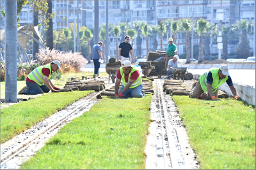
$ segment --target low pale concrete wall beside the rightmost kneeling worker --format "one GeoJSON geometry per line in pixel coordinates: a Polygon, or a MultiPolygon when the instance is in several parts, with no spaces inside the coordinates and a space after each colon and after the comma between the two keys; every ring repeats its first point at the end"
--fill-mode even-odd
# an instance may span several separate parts
{"type": "MultiPolygon", "coordinates": [[[[193,74],[193,79],[199,80],[200,76],[201,76],[200,74],[193,74]]],[[[236,83],[236,82],[233,82],[233,84],[236,87],[237,95],[241,97],[243,101],[246,101],[248,104],[255,105],[255,87],[250,85],[243,85],[241,83],[236,83]]],[[[233,96],[227,83],[223,83],[223,85],[221,85],[219,89],[225,90],[225,92],[228,95],[233,96]]]]}

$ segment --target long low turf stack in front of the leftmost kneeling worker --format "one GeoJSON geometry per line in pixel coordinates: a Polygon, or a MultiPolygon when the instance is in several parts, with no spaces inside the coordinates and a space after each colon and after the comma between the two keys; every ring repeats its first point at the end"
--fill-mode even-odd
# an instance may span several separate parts
{"type": "Polygon", "coordinates": [[[71,92],[75,90],[84,91],[84,90],[95,90],[99,92],[100,90],[106,89],[106,83],[102,80],[90,80],[90,81],[67,81],[64,88],[61,89],[61,92],[71,92]]]}

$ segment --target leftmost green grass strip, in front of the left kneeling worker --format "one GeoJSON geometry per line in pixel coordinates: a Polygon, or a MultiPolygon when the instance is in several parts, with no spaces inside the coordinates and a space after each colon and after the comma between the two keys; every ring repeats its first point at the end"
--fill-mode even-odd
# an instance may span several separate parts
{"type": "Polygon", "coordinates": [[[1,143],[93,91],[49,93],[1,109],[1,143]]]}

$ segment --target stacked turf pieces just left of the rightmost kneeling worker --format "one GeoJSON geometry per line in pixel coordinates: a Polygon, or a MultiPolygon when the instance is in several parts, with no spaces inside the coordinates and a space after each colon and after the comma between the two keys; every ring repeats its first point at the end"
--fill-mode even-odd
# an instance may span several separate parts
{"type": "Polygon", "coordinates": [[[166,94],[177,96],[189,96],[189,90],[182,84],[182,80],[164,80],[164,92],[166,94]]]}

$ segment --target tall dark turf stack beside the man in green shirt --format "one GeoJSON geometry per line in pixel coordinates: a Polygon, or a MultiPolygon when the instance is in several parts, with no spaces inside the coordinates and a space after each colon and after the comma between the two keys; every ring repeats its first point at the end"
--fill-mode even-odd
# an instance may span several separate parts
{"type": "Polygon", "coordinates": [[[152,71],[149,74],[150,76],[166,75],[165,60],[154,61],[160,57],[165,57],[165,55],[166,52],[158,50],[156,50],[156,52],[148,52],[147,60],[151,61],[152,65],[152,71]]]}

